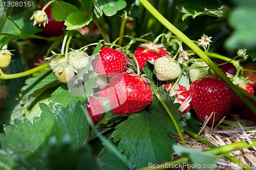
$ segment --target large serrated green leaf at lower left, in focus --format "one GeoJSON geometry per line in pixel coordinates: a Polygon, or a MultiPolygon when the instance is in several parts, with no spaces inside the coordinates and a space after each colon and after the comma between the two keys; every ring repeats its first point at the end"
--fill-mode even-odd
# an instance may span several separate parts
{"type": "Polygon", "coordinates": [[[67,109],[52,102],[48,107],[40,104],[40,117],[33,119],[33,124],[25,118],[16,119],[14,125],[7,125],[5,133],[0,134],[1,148],[13,151],[38,151],[38,154],[49,145],[49,140],[55,137],[60,141],[69,136],[72,148],[76,149],[87,141],[89,125],[83,113],[81,103],[72,102],[67,109]]]}

